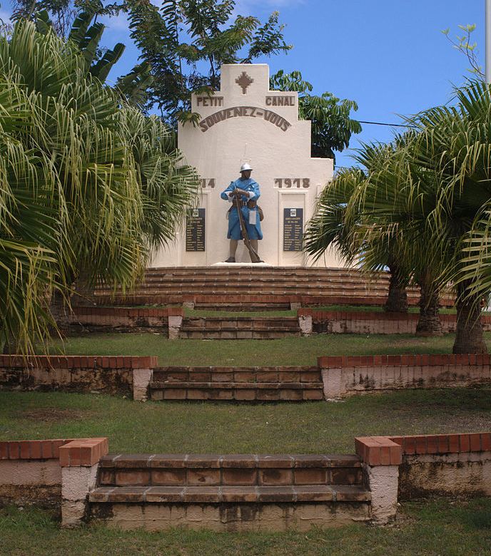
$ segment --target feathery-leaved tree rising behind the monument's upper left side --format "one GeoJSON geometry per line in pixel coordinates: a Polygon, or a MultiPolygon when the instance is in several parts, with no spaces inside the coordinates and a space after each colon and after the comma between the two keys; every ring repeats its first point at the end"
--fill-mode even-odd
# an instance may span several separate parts
{"type": "Polygon", "coordinates": [[[148,101],[164,120],[196,123],[189,115],[191,93],[213,93],[223,63],[250,63],[258,56],[288,51],[278,13],[261,24],[253,16],[233,19],[235,0],[127,0],[131,37],[141,60],[151,66],[148,101]]]}

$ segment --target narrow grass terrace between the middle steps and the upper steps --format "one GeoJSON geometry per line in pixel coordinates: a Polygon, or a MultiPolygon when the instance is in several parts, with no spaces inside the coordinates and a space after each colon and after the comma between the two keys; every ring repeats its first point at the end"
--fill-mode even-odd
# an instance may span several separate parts
{"type": "MultiPolygon", "coordinates": [[[[491,349],[491,332],[485,334],[491,349]]],[[[54,353],[70,355],[155,355],[162,366],[315,365],[324,355],[450,354],[453,334],[417,338],[410,334],[318,334],[280,340],[173,340],[163,334],[86,334],[53,341],[54,353]]]]}

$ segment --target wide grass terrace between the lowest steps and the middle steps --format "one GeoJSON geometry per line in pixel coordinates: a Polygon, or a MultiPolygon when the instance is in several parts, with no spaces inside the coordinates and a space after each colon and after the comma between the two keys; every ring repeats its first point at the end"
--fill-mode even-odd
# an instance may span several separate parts
{"type": "Polygon", "coordinates": [[[490,430],[491,387],[259,405],[0,392],[0,440],[108,436],[111,452],[353,453],[355,436],[490,430]]]}

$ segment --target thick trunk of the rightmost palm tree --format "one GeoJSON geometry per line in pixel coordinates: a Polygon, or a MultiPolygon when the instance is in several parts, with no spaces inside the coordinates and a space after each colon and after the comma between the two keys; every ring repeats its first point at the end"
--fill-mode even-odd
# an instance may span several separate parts
{"type": "Polygon", "coordinates": [[[470,282],[457,285],[457,330],[454,354],[487,354],[482,334],[481,296],[469,296],[470,282]]]}

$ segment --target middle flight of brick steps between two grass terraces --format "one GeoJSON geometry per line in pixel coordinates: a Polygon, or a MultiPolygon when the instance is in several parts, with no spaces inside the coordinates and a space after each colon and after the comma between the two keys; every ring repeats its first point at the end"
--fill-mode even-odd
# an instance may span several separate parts
{"type": "Polygon", "coordinates": [[[323,400],[318,367],[157,367],[150,398],[210,401],[323,400]]]}

